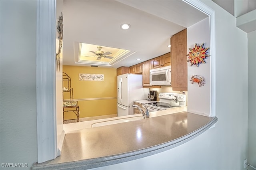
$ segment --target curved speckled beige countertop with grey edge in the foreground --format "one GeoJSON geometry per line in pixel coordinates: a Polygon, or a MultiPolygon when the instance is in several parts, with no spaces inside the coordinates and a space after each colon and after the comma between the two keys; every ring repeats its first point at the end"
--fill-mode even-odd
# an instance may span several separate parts
{"type": "Polygon", "coordinates": [[[69,132],[61,156],[32,169],[90,169],[142,158],[183,144],[217,121],[171,110],[152,112],[148,119],[69,132]]]}

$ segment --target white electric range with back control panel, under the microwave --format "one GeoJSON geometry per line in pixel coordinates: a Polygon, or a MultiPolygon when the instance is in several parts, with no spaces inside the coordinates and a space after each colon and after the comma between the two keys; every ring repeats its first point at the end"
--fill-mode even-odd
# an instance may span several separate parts
{"type": "Polygon", "coordinates": [[[175,108],[174,106],[171,106],[170,103],[172,100],[176,100],[176,97],[179,102],[179,106],[177,107],[186,106],[186,95],[179,93],[159,93],[159,101],[152,101],[150,103],[144,104],[149,112],[162,111],[166,109],[175,108]]]}

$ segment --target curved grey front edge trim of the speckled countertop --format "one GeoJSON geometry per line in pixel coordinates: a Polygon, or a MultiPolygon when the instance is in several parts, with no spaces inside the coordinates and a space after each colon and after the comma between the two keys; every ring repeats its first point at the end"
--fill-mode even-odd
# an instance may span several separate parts
{"type": "Polygon", "coordinates": [[[144,148],[141,150],[136,150],[132,152],[126,152],[122,154],[112,155],[112,156],[106,156],[101,158],[92,158],[87,160],[78,160],[73,162],[64,162],[59,164],[48,164],[48,165],[38,165],[34,164],[32,167],[32,170],[49,170],[49,169],[91,169],[91,168],[98,168],[102,166],[108,166],[113,164],[118,164],[122,162],[128,162],[131,160],[136,160],[139,158],[144,158],[146,156],[158,154],[160,152],[164,152],[166,150],[169,150],[171,148],[174,148],[176,146],[179,146],[181,144],[184,144],[188,142],[189,140],[192,140],[196,136],[199,136],[206,130],[208,130],[212,125],[214,125],[218,121],[217,117],[214,117],[209,123],[202,126],[201,128],[198,128],[197,130],[194,130],[193,132],[182,136],[180,138],[177,138],[175,140],[171,140],[169,142],[159,144],[156,146],[151,146],[149,148],[144,148]]]}

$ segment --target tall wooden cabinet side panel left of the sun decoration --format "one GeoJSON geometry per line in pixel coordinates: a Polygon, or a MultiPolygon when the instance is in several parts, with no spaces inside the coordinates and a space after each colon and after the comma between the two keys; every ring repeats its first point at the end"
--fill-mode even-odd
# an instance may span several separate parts
{"type": "Polygon", "coordinates": [[[171,37],[172,90],[188,91],[187,30],[171,37]]]}

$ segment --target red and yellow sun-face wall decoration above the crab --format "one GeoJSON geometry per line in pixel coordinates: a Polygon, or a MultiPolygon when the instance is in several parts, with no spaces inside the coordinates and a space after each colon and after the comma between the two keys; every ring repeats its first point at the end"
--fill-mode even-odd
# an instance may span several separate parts
{"type": "Polygon", "coordinates": [[[188,48],[190,50],[189,54],[187,54],[186,56],[188,56],[188,61],[190,62],[190,66],[192,66],[193,64],[196,64],[196,67],[199,66],[199,63],[205,63],[204,59],[206,59],[206,57],[209,57],[210,55],[206,54],[207,50],[209,49],[204,47],[204,43],[202,43],[202,45],[197,46],[197,44],[195,44],[195,47],[193,49],[188,48]]]}

